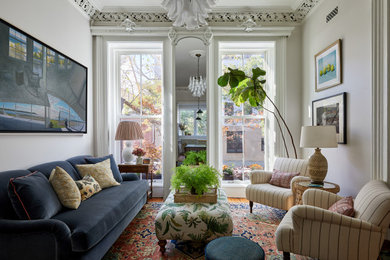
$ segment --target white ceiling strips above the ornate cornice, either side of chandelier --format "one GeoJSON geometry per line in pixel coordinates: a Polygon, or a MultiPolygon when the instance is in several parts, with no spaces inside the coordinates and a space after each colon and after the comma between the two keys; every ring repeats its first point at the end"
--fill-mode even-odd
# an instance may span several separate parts
{"type": "MultiPolygon", "coordinates": [[[[100,11],[164,11],[162,0],[90,0],[100,11]]],[[[303,0],[217,0],[213,11],[295,10],[303,0]]]]}

